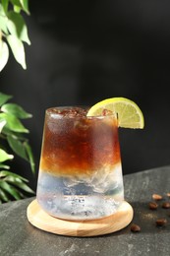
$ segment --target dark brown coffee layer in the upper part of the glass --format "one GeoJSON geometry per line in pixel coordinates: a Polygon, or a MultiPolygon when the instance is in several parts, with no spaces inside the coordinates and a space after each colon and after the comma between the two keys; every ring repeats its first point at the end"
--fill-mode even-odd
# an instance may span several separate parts
{"type": "Polygon", "coordinates": [[[82,108],[47,110],[40,169],[84,175],[120,162],[117,120],[85,117],[82,108]]]}

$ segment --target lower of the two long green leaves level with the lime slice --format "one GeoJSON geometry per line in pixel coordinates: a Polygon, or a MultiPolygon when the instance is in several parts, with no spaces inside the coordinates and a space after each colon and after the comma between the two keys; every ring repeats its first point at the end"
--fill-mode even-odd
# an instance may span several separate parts
{"type": "Polygon", "coordinates": [[[9,113],[0,113],[0,122],[5,120],[6,126],[8,129],[14,132],[19,133],[28,133],[28,129],[21,123],[21,121],[12,114],[9,113]]]}

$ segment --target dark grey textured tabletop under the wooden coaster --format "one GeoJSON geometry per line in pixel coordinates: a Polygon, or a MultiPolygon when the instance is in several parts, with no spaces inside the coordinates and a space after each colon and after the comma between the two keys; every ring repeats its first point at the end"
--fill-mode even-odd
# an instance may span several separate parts
{"type": "Polygon", "coordinates": [[[170,209],[163,209],[169,200],[170,166],[144,170],[124,176],[125,198],[133,206],[133,223],[141,225],[141,232],[130,226],[112,234],[95,237],[68,237],[42,231],[27,220],[29,198],[0,206],[0,255],[22,256],[122,256],[170,255],[170,209]],[[152,194],[163,200],[155,211],[148,208],[152,194]],[[158,227],[155,221],[166,218],[167,224],[158,227]]]}

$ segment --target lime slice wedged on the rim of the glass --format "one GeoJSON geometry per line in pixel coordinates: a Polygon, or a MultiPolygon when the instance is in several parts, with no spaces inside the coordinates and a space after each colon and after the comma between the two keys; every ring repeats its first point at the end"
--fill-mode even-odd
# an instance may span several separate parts
{"type": "Polygon", "coordinates": [[[99,116],[117,113],[118,125],[123,128],[143,129],[144,118],[140,107],[126,97],[111,97],[91,106],[87,116],[99,116]]]}

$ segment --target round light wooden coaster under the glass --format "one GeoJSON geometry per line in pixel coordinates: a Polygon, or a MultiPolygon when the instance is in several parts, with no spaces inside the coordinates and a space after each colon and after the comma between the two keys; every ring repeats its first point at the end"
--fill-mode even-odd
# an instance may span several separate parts
{"type": "Polygon", "coordinates": [[[118,231],[133,220],[132,206],[124,201],[118,212],[109,217],[92,221],[66,221],[46,214],[36,199],[28,205],[28,222],[44,231],[68,236],[96,236],[118,231]]]}

